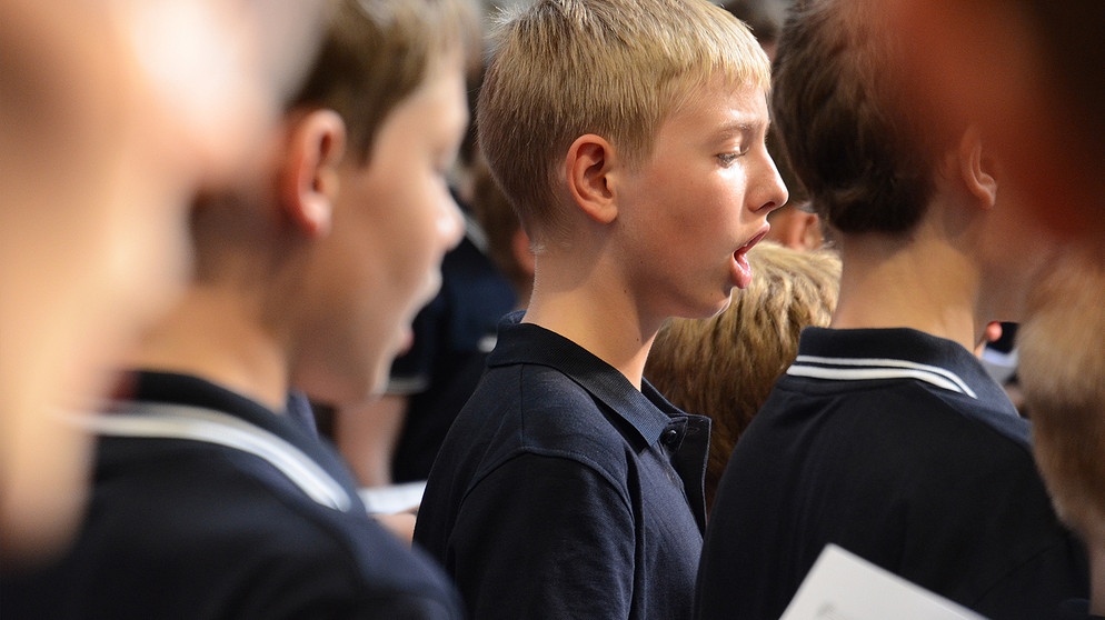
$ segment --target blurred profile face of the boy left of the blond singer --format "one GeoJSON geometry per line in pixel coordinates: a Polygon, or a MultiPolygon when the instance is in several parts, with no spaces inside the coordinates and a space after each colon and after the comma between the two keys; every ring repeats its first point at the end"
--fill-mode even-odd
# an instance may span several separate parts
{"type": "Polygon", "coordinates": [[[465,92],[459,59],[441,62],[385,120],[367,166],[346,154],[315,266],[317,322],[303,333],[315,352],[303,383],[319,400],[378,393],[415,314],[440,289],[441,259],[464,234],[447,176],[468,124],[465,92]]]}

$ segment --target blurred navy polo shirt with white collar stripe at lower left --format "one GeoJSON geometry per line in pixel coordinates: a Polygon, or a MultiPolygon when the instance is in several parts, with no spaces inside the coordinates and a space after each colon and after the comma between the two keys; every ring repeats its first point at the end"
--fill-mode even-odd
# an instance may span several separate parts
{"type": "Polygon", "coordinates": [[[71,551],[6,576],[4,618],[461,618],[441,570],[385,531],[337,453],[207,381],[142,373],[101,433],[71,551]]]}

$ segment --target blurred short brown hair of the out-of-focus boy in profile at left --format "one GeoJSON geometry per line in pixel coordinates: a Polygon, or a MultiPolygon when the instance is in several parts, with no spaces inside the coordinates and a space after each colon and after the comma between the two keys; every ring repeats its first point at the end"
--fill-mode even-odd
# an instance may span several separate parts
{"type": "Polygon", "coordinates": [[[451,53],[482,47],[470,0],[331,0],[322,49],[292,108],[342,118],[349,149],[367,163],[388,114],[451,53]]]}

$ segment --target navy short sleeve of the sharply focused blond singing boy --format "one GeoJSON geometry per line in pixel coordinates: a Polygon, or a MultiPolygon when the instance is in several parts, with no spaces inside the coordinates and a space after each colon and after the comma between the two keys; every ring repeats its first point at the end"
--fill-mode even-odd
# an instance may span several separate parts
{"type": "Polygon", "coordinates": [[[468,493],[448,554],[474,618],[628,618],[636,538],[608,478],[526,453],[468,493]]]}

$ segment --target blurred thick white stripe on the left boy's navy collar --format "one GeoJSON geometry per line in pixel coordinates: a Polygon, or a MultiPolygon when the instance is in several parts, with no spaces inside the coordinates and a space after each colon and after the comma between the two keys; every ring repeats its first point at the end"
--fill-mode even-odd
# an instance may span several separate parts
{"type": "Polygon", "coordinates": [[[152,402],[127,403],[119,413],[72,418],[101,436],[185,439],[248,452],[277,468],[315,502],[346,512],[349,493],[302,450],[249,422],[199,407],[152,402]]]}

